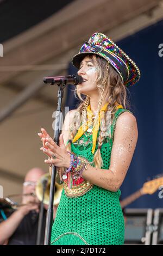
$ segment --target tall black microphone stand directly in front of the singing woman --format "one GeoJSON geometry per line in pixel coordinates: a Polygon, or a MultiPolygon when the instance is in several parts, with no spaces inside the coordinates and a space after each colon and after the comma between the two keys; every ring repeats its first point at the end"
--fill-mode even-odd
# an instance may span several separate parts
{"type": "MultiPolygon", "coordinates": [[[[62,97],[64,97],[64,88],[65,88],[65,80],[61,78],[60,84],[58,84],[58,107],[55,113],[55,126],[54,126],[54,142],[59,144],[59,136],[60,136],[60,127],[62,121],[62,111],[61,111],[61,102],[62,97]]],[[[54,84],[53,82],[51,83],[54,84]]],[[[49,193],[49,207],[47,210],[47,218],[46,218],[46,228],[45,228],[45,240],[44,245],[49,245],[51,242],[51,232],[52,232],[52,223],[53,223],[53,202],[54,202],[54,188],[55,188],[55,176],[57,173],[57,167],[52,165],[52,176],[51,176],[51,187],[49,193]]]]}

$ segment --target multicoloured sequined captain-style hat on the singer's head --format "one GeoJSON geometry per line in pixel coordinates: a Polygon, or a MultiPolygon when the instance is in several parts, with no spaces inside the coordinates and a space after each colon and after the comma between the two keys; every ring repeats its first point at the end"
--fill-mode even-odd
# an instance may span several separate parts
{"type": "Polygon", "coordinates": [[[79,53],[72,58],[73,65],[79,68],[80,62],[87,54],[97,54],[106,59],[127,87],[133,86],[140,79],[140,70],[135,62],[115,42],[102,33],[94,33],[89,41],[83,44],[79,53]]]}

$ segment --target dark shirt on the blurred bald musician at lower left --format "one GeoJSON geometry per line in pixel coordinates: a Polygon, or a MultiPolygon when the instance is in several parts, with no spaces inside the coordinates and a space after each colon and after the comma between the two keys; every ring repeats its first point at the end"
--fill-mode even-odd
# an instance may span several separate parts
{"type": "MultiPolygon", "coordinates": [[[[24,216],[20,225],[18,225],[15,233],[10,237],[8,245],[36,245],[37,227],[39,222],[39,214],[30,211],[24,216]]],[[[44,242],[46,225],[46,210],[43,211],[43,224],[41,234],[41,245],[44,242]]]]}

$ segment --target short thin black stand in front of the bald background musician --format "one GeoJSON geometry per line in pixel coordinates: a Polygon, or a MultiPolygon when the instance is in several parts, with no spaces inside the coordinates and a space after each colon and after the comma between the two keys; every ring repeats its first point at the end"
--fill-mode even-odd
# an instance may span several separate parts
{"type": "Polygon", "coordinates": [[[41,201],[40,213],[39,213],[39,222],[38,222],[38,228],[37,228],[36,245],[41,244],[42,224],[43,224],[43,201],[44,201],[44,197],[45,197],[47,181],[48,181],[47,179],[44,179],[42,181],[42,201],[41,201]]]}

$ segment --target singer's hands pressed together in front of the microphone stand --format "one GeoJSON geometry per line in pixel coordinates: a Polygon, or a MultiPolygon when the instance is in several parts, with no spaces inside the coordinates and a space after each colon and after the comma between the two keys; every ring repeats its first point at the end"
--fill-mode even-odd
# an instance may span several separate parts
{"type": "Polygon", "coordinates": [[[38,133],[43,144],[43,147],[40,149],[49,157],[49,159],[45,160],[45,163],[54,164],[54,166],[57,167],[68,168],[70,166],[70,155],[67,153],[62,134],[59,137],[58,146],[45,129],[42,128],[41,131],[42,133],[38,133]],[[55,156],[56,158],[54,159],[52,156],[55,156]]]}

